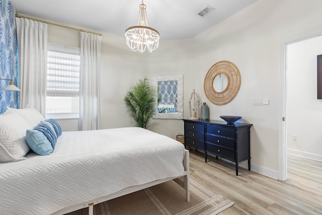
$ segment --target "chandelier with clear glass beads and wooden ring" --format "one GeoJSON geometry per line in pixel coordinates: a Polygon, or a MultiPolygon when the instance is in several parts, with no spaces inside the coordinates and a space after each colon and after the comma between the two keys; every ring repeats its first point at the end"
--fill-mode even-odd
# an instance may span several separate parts
{"type": "Polygon", "coordinates": [[[146,17],[146,5],[142,0],[137,25],[125,30],[126,44],[133,51],[139,50],[142,53],[147,49],[152,52],[159,46],[160,34],[147,25],[146,17]]]}

